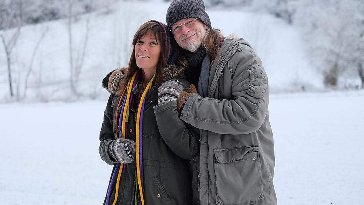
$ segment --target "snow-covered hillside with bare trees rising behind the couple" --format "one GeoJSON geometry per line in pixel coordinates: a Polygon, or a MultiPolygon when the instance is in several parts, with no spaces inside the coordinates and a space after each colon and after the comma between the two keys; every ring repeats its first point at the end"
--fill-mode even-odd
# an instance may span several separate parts
{"type": "MultiPolygon", "coordinates": [[[[120,2],[112,11],[97,11],[81,16],[72,26],[73,52],[82,51],[87,18],[90,18],[86,56],[78,91],[83,98],[102,96],[100,80],[110,70],[126,66],[131,52],[131,40],[142,23],[155,19],[165,22],[169,3],[120,2]]],[[[242,11],[207,10],[212,26],[222,34],[235,32],[250,42],[263,61],[270,89],[297,91],[322,88],[321,75],[309,65],[305,45],[294,27],[268,14],[242,11]]],[[[29,76],[27,100],[66,100],[70,94],[70,60],[67,19],[25,26],[13,51],[13,78],[23,95],[24,79],[36,42],[46,31],[35,55],[29,76]],[[48,28],[48,30],[47,30],[48,28]]],[[[7,65],[0,49],[0,97],[9,96],[7,65]]],[[[16,85],[14,85],[16,87],[16,85]]],[[[104,98],[105,96],[103,96],[104,98]]]]}

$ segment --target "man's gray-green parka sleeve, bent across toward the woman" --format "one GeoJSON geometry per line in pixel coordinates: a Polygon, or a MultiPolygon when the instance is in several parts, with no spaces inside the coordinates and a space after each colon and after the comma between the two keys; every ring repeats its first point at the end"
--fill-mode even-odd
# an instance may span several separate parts
{"type": "Polygon", "coordinates": [[[195,93],[183,107],[183,121],[218,134],[248,134],[261,127],[269,102],[268,78],[261,61],[254,51],[245,51],[236,52],[229,63],[233,68],[232,99],[203,98],[195,93]]]}

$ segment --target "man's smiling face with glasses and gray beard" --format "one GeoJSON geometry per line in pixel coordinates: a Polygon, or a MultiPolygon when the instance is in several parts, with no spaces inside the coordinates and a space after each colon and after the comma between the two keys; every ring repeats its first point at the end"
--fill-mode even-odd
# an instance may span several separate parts
{"type": "MultiPolygon", "coordinates": [[[[187,23],[190,20],[194,20],[195,18],[190,19],[182,19],[171,27],[172,30],[175,26],[179,26],[183,23],[187,23]]],[[[203,38],[206,35],[206,29],[208,27],[203,24],[200,20],[195,20],[195,22],[186,27],[184,24],[181,26],[181,30],[179,32],[174,32],[174,38],[176,39],[179,46],[183,49],[189,50],[191,53],[197,51],[197,49],[201,46],[203,38]]]]}

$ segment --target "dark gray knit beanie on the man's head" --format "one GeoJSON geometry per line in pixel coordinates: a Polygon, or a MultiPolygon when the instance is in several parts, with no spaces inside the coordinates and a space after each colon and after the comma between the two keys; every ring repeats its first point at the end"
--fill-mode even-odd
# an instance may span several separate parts
{"type": "Polygon", "coordinates": [[[174,23],[189,18],[198,18],[212,29],[203,0],[173,0],[167,10],[167,26],[171,27],[174,23]]]}

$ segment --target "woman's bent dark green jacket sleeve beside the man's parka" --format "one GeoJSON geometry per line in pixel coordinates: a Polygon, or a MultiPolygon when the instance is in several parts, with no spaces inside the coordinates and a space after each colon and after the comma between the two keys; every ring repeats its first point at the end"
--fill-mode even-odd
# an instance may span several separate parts
{"type": "MultiPolygon", "coordinates": [[[[189,84],[184,89],[189,90],[189,84]]],[[[194,158],[199,151],[199,129],[179,119],[177,103],[157,105],[154,114],[159,133],[174,154],[183,159],[194,158]]]]}

